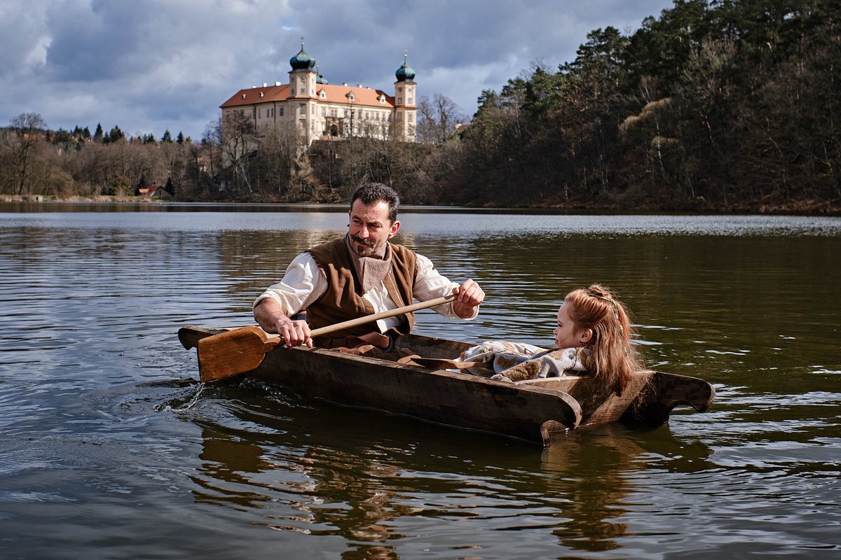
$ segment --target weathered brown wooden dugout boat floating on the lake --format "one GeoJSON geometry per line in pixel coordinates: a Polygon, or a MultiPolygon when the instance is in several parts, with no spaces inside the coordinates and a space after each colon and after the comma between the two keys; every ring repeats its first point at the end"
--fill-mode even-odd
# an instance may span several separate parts
{"type": "MultiPolygon", "coordinates": [[[[178,331],[178,338],[184,348],[197,348],[199,340],[220,332],[224,330],[189,326],[178,331]]],[[[398,345],[411,348],[428,363],[453,359],[471,346],[414,334],[399,338],[398,345]]],[[[651,370],[637,372],[622,395],[612,395],[587,376],[511,383],[304,347],[273,348],[248,374],[304,398],[543,445],[567,430],[614,421],[659,426],[675,406],[706,411],[715,397],[712,385],[703,379],[651,370]]]]}

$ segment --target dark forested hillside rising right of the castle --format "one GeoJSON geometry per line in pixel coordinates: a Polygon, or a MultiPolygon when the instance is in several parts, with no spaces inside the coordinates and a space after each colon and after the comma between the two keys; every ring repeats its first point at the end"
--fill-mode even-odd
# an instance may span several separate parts
{"type": "Polygon", "coordinates": [[[484,92],[450,201],[820,208],[841,201],[838,2],[675,2],[484,92]]]}

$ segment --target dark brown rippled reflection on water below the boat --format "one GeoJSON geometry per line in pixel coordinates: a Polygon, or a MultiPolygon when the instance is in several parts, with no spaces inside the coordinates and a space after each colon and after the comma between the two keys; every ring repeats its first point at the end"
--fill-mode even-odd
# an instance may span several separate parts
{"type": "Polygon", "coordinates": [[[251,526],[341,536],[352,547],[342,557],[398,557],[412,547],[481,556],[502,542],[510,550],[510,531],[544,547],[554,536],[575,550],[611,550],[627,533],[623,503],[637,500],[645,463],[706,468],[710,454],[668,426],[572,431],[541,451],[380,413],[302,406],[254,380],[219,396],[231,417],[203,427],[194,499],[248,516],[251,526]],[[463,531],[432,534],[442,519],[457,519],[463,531]],[[465,533],[473,536],[465,541],[465,533]]]}

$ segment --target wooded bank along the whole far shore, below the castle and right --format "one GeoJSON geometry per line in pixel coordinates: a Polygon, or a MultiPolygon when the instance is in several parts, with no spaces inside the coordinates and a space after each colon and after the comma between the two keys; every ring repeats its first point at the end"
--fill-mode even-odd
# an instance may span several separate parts
{"type": "Polygon", "coordinates": [[[417,144],[300,145],[243,119],[201,142],[0,130],[0,194],[56,200],[341,202],[360,183],[408,204],[618,212],[841,212],[841,6],[676,2],[637,31],[595,29],[572,62],[485,91],[466,125],[421,98],[417,144]],[[436,110],[429,110],[436,109],[436,110]]]}

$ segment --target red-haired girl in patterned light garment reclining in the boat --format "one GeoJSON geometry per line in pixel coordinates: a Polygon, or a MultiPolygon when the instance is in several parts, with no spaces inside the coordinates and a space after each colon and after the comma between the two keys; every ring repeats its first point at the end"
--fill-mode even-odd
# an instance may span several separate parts
{"type": "MultiPolygon", "coordinates": [[[[531,344],[489,341],[468,348],[459,359],[480,362],[486,366],[485,372],[492,366],[492,379],[510,381],[588,372],[617,395],[633,372],[642,367],[642,359],[631,343],[627,310],[603,285],[569,292],[558,309],[558,327],[553,333],[555,348],[548,350],[531,344]]],[[[468,371],[481,373],[482,369],[479,366],[468,371]]]]}

